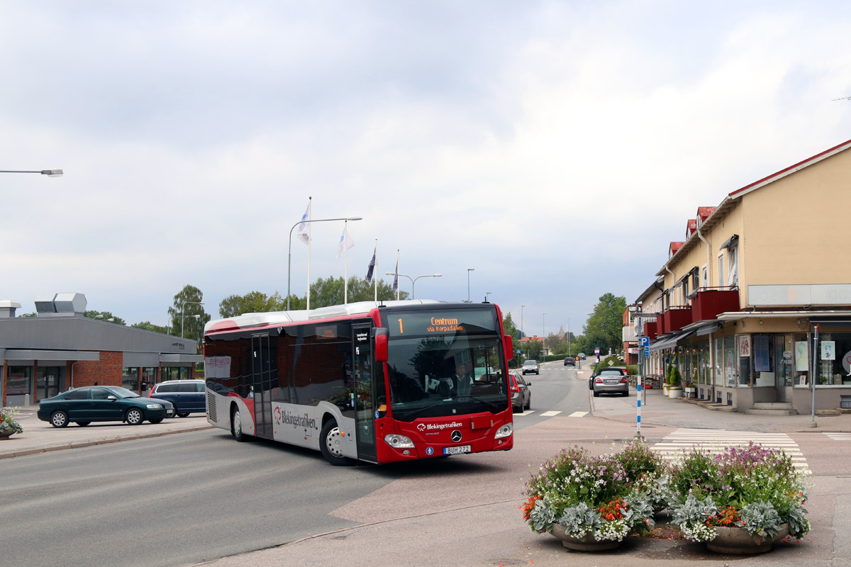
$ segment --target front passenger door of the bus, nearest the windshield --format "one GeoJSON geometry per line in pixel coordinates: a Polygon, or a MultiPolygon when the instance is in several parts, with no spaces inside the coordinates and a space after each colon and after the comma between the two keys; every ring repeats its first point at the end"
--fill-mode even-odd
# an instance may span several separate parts
{"type": "Polygon", "coordinates": [[[352,325],[352,355],[355,371],[355,428],[357,456],[375,462],[375,406],[373,383],[372,325],[352,325]]]}

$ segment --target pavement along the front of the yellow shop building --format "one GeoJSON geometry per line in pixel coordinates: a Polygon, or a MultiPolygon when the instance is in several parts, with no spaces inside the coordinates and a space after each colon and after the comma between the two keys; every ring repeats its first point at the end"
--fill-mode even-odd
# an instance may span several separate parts
{"type": "MultiPolygon", "coordinates": [[[[591,413],[619,422],[637,422],[636,390],[628,398],[600,396],[594,398],[589,391],[591,413]]],[[[676,428],[729,429],[760,432],[851,432],[851,414],[815,416],[816,427],[811,427],[810,415],[762,416],[739,411],[719,411],[700,405],[697,400],[668,398],[660,389],[646,390],[642,402],[641,422],[650,425],[667,425],[676,428]]]]}

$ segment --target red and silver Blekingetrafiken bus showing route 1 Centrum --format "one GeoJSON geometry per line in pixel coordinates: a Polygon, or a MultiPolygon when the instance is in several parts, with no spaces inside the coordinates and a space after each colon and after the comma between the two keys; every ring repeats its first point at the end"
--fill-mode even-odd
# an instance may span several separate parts
{"type": "Polygon", "coordinates": [[[331,464],[513,445],[502,314],[493,303],[349,303],[239,315],[204,329],[207,419],[233,437],[331,464]]]}

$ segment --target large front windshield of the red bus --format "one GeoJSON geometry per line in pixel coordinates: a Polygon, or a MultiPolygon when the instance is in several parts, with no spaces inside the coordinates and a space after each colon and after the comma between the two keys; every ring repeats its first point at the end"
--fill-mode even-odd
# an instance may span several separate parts
{"type": "Polygon", "coordinates": [[[479,327],[441,336],[392,337],[387,348],[396,419],[505,411],[499,333],[479,327]]]}

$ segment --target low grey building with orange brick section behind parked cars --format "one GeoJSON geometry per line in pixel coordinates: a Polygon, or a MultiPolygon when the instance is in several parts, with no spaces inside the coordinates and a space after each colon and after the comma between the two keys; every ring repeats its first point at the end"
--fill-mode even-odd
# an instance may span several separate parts
{"type": "Polygon", "coordinates": [[[83,316],[82,293],[37,299],[35,317],[0,301],[3,405],[36,404],[68,388],[123,386],[143,394],[153,383],[194,377],[197,343],[83,316]]]}

